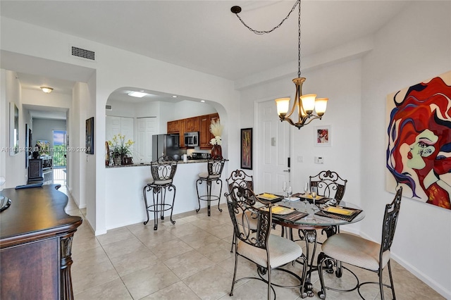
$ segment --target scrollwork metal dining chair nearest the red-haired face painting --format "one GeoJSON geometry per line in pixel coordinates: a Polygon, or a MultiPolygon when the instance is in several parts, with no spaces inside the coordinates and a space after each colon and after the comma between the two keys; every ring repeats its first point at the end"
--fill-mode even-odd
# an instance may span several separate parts
{"type": "MultiPolygon", "coordinates": [[[[321,282],[321,292],[318,292],[318,296],[321,299],[326,299],[326,289],[332,289],[338,292],[351,292],[354,289],[357,289],[359,295],[362,297],[362,299],[364,299],[364,297],[360,293],[360,287],[369,283],[379,285],[381,299],[384,299],[384,286],[391,289],[393,299],[396,299],[395,288],[393,287],[392,270],[390,267],[390,247],[393,243],[397,218],[400,214],[401,196],[402,187],[397,190],[393,202],[391,204],[385,205],[381,244],[372,242],[357,235],[350,235],[347,233],[338,233],[326,239],[326,242],[324,242],[322,246],[322,252],[318,256],[319,279],[321,282]],[[323,263],[325,263],[326,261],[330,261],[332,263],[341,261],[343,263],[354,265],[358,268],[372,271],[378,274],[379,282],[359,283],[359,278],[357,277],[357,275],[343,266],[342,268],[345,268],[346,270],[350,271],[352,275],[354,275],[357,280],[357,285],[352,289],[346,290],[325,287],[323,278],[323,263]],[[385,266],[388,267],[390,285],[384,284],[382,280],[382,273],[385,266]]],[[[337,276],[341,277],[341,274],[337,274],[337,276]]]]}

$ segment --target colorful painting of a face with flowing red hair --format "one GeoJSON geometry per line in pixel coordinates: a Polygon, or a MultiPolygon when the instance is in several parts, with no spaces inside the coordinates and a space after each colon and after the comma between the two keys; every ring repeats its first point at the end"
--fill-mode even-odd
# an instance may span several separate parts
{"type": "Polygon", "coordinates": [[[451,72],[389,94],[387,111],[388,191],[451,209],[451,72]]]}

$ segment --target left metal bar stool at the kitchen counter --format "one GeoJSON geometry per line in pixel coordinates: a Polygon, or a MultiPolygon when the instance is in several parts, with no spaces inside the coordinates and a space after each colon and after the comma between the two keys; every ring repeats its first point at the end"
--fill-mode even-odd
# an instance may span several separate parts
{"type": "Polygon", "coordinates": [[[149,222],[149,212],[154,213],[154,230],[158,229],[158,214],[160,213],[161,220],[164,220],[164,212],[171,210],[171,223],[175,224],[172,219],[172,211],[175,200],[175,185],[173,185],[173,178],[175,170],[177,170],[177,161],[168,156],[161,156],[156,161],[150,164],[152,172],[152,182],[148,183],[142,189],[144,194],[144,204],[146,205],[147,221],[149,222]],[[154,204],[147,204],[147,192],[152,190],[154,204]],[[172,204],[166,204],[166,192],[173,191],[172,204]]]}

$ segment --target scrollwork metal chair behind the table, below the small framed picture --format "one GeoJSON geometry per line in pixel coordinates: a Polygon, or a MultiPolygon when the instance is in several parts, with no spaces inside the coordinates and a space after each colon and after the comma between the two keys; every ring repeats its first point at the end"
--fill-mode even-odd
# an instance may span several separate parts
{"type": "Polygon", "coordinates": [[[333,198],[337,202],[340,202],[345,195],[346,183],[347,180],[330,170],[310,176],[310,187],[318,187],[318,196],[333,198]]]}

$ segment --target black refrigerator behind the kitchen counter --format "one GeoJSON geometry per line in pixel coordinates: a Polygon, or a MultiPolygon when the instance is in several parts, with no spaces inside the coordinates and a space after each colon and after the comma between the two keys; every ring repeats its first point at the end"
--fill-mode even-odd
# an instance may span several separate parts
{"type": "Polygon", "coordinates": [[[160,156],[171,156],[180,161],[186,149],[180,149],[179,138],[179,135],[152,135],[152,161],[160,156]]]}

